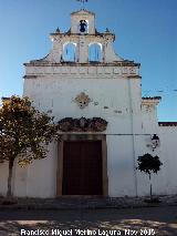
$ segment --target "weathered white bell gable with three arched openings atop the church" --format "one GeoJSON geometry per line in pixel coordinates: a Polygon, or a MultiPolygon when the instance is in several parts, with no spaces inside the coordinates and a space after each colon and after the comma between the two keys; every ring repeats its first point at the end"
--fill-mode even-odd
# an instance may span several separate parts
{"type": "Polygon", "coordinates": [[[96,32],[95,30],[95,14],[85,10],[81,10],[71,14],[71,29],[66,33],[56,31],[50,35],[53,48],[49,55],[43,61],[60,63],[63,60],[64,47],[67,43],[73,43],[75,50],[75,61],[80,63],[88,62],[88,48],[93,43],[98,43],[102,48],[101,62],[114,62],[123,61],[119,55],[114,52],[113,42],[115,35],[110,31],[104,33],[96,32]],[[80,21],[85,20],[87,22],[87,32],[80,32],[80,21]]]}

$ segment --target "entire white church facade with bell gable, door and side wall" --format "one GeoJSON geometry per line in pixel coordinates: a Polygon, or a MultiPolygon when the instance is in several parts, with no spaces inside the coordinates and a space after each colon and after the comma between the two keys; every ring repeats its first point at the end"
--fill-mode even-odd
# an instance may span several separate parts
{"type": "MultiPolygon", "coordinates": [[[[55,117],[61,141],[49,146],[46,158],[27,168],[15,164],[13,195],[148,195],[148,176],[136,168],[146,153],[163,162],[152,179],[154,194],[177,194],[177,122],[158,122],[159,96],[142,98],[140,64],[114,52],[115,35],[97,32],[87,10],[71,13],[71,29],[50,38],[50,53],[24,63],[23,95],[55,117]]],[[[2,195],[4,172],[6,163],[2,195]]]]}

